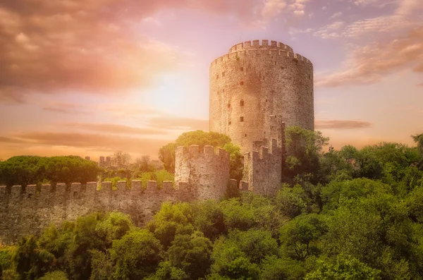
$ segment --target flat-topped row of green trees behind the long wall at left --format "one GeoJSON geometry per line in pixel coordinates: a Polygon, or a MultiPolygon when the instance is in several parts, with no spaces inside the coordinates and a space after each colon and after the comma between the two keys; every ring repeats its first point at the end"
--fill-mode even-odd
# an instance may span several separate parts
{"type": "Polygon", "coordinates": [[[1,185],[97,181],[97,163],[77,156],[18,156],[0,162],[1,185]]]}

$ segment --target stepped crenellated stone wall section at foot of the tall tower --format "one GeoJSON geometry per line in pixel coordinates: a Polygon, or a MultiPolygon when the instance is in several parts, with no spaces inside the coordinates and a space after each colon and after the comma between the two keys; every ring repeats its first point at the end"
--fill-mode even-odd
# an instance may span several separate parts
{"type": "Polygon", "coordinates": [[[282,150],[276,139],[269,141],[269,147],[259,147],[259,151],[248,152],[244,156],[244,178],[241,189],[270,195],[281,185],[282,150]]]}

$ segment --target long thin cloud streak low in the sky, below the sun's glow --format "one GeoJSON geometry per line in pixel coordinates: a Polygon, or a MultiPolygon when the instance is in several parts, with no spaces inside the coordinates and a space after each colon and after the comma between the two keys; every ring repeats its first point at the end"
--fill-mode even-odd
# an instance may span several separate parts
{"type": "Polygon", "coordinates": [[[163,129],[136,128],[133,126],[123,126],[113,123],[64,123],[63,126],[112,134],[160,135],[167,133],[166,130],[163,129]]]}

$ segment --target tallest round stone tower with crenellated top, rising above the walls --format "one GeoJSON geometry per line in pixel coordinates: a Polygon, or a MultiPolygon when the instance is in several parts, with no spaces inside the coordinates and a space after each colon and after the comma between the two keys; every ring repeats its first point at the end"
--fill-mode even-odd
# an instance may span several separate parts
{"type": "Polygon", "coordinates": [[[272,134],[271,115],[314,130],[313,65],[280,42],[236,44],[210,65],[210,130],[250,152],[272,134]]]}

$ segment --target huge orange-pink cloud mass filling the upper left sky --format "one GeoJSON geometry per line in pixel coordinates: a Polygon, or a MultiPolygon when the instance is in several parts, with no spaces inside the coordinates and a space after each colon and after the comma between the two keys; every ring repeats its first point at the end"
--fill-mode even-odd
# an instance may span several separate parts
{"type": "Polygon", "coordinates": [[[0,102],[22,103],[33,92],[120,96],[148,87],[184,57],[178,47],[140,35],[139,23],[158,23],[152,16],[164,8],[252,21],[265,7],[257,0],[2,1],[0,102]]]}

